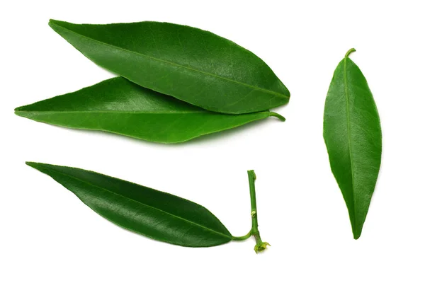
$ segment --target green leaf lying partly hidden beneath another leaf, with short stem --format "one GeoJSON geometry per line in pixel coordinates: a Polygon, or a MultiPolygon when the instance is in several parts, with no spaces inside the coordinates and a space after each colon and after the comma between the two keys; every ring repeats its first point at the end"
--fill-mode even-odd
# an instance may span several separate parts
{"type": "Polygon", "coordinates": [[[162,143],[187,141],[271,115],[285,119],[268,111],[243,115],[210,112],[142,88],[122,77],[22,106],[15,111],[16,115],[38,122],[113,132],[162,143]]]}

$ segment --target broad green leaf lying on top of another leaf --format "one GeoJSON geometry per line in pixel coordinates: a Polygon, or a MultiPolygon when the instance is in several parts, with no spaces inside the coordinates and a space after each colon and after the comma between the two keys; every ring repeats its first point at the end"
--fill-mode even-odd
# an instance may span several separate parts
{"type": "Polygon", "coordinates": [[[157,22],[49,25],[99,66],[207,110],[258,112],[290,97],[259,57],[205,30],[157,22]]]}

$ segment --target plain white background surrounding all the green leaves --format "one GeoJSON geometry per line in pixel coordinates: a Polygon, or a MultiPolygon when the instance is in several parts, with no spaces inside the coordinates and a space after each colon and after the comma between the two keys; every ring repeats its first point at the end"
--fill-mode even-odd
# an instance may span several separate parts
{"type": "Polygon", "coordinates": [[[3,1],[0,282],[425,282],[424,1],[3,1]],[[167,21],[227,37],[291,91],[256,122],[179,145],[53,127],[13,109],[113,74],[57,35],[73,23],[167,21]],[[322,139],[324,99],[351,47],[382,121],[380,177],[353,240],[322,139]],[[85,168],[203,204],[254,240],[182,248],[118,228],[25,161],[85,168]]]}

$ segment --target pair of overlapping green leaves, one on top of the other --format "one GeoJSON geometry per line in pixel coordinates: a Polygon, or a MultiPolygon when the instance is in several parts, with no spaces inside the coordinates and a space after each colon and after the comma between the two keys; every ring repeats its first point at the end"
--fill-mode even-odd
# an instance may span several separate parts
{"type": "Polygon", "coordinates": [[[141,22],[50,27],[120,77],[16,108],[39,122],[177,143],[269,116],[290,93],[255,54],[185,25],[141,22]]]}

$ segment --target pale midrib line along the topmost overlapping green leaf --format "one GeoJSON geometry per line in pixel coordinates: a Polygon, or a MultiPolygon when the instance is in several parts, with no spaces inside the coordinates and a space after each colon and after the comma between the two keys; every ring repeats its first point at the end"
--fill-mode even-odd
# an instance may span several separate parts
{"type": "MultiPolygon", "coordinates": [[[[58,27],[60,27],[60,28],[64,28],[62,25],[58,25],[57,23],[52,23],[52,22],[50,22],[50,23],[51,23],[52,25],[57,25],[57,26],[58,26],[58,27]]],[[[69,30],[69,28],[64,28],[64,29],[65,29],[65,30],[69,30]]],[[[86,36],[86,35],[81,35],[81,33],[74,32],[74,30],[69,30],[69,32],[74,33],[74,34],[76,34],[76,35],[79,35],[79,36],[81,36],[81,37],[85,37],[85,38],[87,38],[87,39],[89,39],[89,40],[93,40],[93,41],[95,41],[95,42],[101,43],[101,44],[103,44],[103,45],[108,45],[108,46],[110,46],[110,47],[114,47],[114,48],[116,48],[116,49],[118,49],[118,50],[123,50],[123,51],[125,51],[125,52],[130,52],[130,53],[132,53],[132,54],[136,54],[136,55],[139,55],[139,56],[147,57],[147,58],[149,58],[149,59],[157,60],[157,61],[159,61],[159,62],[163,62],[163,63],[170,64],[170,65],[174,65],[174,66],[176,66],[176,67],[180,67],[180,68],[183,68],[183,69],[188,69],[188,70],[191,70],[191,71],[196,71],[196,72],[198,72],[198,73],[200,73],[200,74],[205,74],[205,75],[208,75],[208,76],[213,76],[213,77],[215,77],[215,78],[217,78],[217,79],[222,79],[222,80],[225,80],[225,81],[230,81],[230,82],[232,82],[232,83],[240,84],[240,85],[242,85],[242,86],[247,86],[247,87],[249,87],[249,88],[258,89],[258,90],[260,90],[260,91],[264,91],[264,92],[266,92],[266,93],[271,93],[271,94],[273,94],[274,96],[282,96],[283,98],[288,98],[288,99],[289,99],[289,96],[286,96],[286,95],[285,95],[285,94],[283,94],[283,93],[276,93],[275,91],[269,91],[269,90],[268,90],[268,89],[266,89],[266,88],[260,88],[259,86],[251,86],[251,85],[250,85],[250,84],[248,84],[248,83],[242,83],[241,81],[234,81],[234,80],[232,80],[232,79],[225,78],[224,76],[218,76],[218,75],[216,75],[216,74],[208,73],[208,72],[206,72],[206,71],[200,71],[200,70],[198,70],[198,69],[193,69],[193,68],[190,68],[190,67],[186,67],[186,66],[183,66],[183,65],[181,65],[181,64],[177,64],[177,63],[174,63],[174,62],[166,61],[166,60],[164,60],[164,59],[159,59],[159,58],[156,58],[156,57],[152,57],[152,56],[149,56],[149,55],[147,55],[147,54],[142,54],[142,53],[138,53],[138,52],[135,52],[135,51],[132,51],[132,50],[127,50],[127,49],[124,49],[123,47],[118,47],[118,46],[116,46],[116,45],[111,45],[111,44],[106,43],[106,42],[103,42],[103,41],[95,40],[94,38],[92,38],[92,37],[88,37],[88,36],[86,36]]],[[[241,48],[242,48],[242,47],[241,47],[241,48]]]]}

